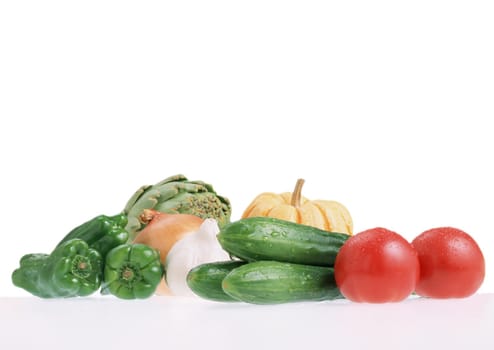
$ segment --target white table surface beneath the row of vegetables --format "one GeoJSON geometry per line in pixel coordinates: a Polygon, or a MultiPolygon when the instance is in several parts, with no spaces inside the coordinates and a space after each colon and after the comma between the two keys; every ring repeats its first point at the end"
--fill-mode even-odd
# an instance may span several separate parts
{"type": "Polygon", "coordinates": [[[494,349],[494,294],[400,303],[0,298],[0,349],[494,349]]]}

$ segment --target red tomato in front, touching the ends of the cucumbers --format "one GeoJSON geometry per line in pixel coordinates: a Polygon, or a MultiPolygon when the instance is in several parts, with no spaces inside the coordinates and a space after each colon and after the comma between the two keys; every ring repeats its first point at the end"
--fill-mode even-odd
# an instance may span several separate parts
{"type": "Polygon", "coordinates": [[[336,284],[345,298],[368,303],[406,299],[415,289],[419,271],[412,245],[381,227],[350,237],[334,265],[336,284]]]}

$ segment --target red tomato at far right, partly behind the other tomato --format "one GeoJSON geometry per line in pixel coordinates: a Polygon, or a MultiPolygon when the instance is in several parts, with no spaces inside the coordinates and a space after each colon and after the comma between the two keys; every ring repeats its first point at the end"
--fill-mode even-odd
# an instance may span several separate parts
{"type": "Polygon", "coordinates": [[[417,236],[412,245],[420,261],[417,294],[464,298],[475,293],[484,281],[484,256],[467,233],[453,227],[433,228],[417,236]]]}

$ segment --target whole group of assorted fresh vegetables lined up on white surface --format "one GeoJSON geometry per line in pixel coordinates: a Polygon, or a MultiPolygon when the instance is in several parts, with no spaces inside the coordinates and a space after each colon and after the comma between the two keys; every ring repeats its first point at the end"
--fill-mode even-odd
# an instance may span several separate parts
{"type": "Polygon", "coordinates": [[[279,304],[348,299],[464,298],[485,277],[480,247],[453,227],[408,242],[376,227],[354,234],[343,204],[264,192],[230,222],[231,204],[183,175],[142,186],[114,216],[67,233],[49,254],[24,255],[12,282],[40,298],[199,296],[279,304]]]}

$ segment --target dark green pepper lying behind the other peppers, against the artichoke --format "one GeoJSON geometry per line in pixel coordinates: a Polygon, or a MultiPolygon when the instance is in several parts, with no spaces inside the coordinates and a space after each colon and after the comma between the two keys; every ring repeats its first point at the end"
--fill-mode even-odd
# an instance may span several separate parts
{"type": "Polygon", "coordinates": [[[105,257],[111,249],[127,243],[129,233],[125,230],[126,225],[127,216],[125,214],[114,216],[99,215],[74,228],[58,245],[60,246],[71,239],[79,238],[105,257]]]}

